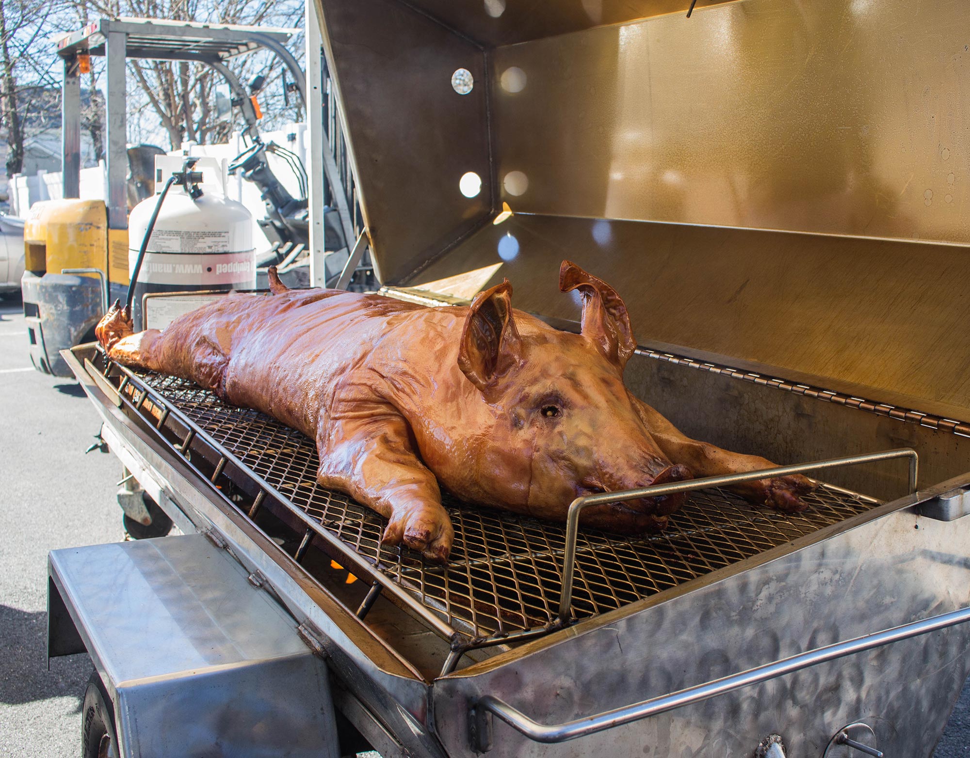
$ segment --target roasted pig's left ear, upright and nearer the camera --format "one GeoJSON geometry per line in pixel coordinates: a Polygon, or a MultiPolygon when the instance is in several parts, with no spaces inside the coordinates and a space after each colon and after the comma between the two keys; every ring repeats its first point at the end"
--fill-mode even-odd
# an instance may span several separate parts
{"type": "Polygon", "coordinates": [[[471,301],[462,330],[458,365],[482,392],[492,387],[519,357],[519,332],[512,319],[512,285],[505,279],[471,301]]]}

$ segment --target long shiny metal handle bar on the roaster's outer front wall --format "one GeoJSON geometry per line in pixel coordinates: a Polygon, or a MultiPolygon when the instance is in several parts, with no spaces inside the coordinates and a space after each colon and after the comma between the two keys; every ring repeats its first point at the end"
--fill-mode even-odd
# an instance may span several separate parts
{"type": "Polygon", "coordinates": [[[517,732],[524,734],[535,742],[566,742],[577,737],[602,732],[615,726],[629,724],[641,718],[657,715],[666,711],[673,711],[684,706],[691,706],[704,700],[724,695],[727,692],[758,684],[767,679],[776,679],[786,674],[807,669],[820,663],[843,658],[846,655],[853,655],[857,652],[871,650],[873,647],[882,647],[890,643],[908,640],[911,637],[919,637],[922,634],[935,632],[939,629],[946,629],[965,621],[970,621],[970,608],[962,608],[958,611],[951,611],[949,614],[932,616],[921,621],[912,621],[902,626],[886,629],[876,634],[856,637],[852,640],[817,647],[814,650],[792,655],[789,658],[782,658],[774,663],[758,666],[754,669],[739,674],[733,674],[722,679],[713,679],[703,684],[681,689],[669,695],[651,698],[640,703],[634,703],[625,708],[605,711],[595,716],[577,718],[573,721],[566,721],[565,724],[546,725],[533,721],[522,711],[509,706],[492,695],[485,695],[480,698],[472,707],[469,717],[471,720],[470,729],[473,747],[479,752],[486,752],[492,747],[492,724],[489,717],[494,713],[506,724],[517,732]]]}

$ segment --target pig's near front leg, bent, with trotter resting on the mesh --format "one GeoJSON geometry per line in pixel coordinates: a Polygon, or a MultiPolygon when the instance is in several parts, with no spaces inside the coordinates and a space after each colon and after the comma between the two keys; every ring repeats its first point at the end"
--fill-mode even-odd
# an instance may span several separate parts
{"type": "Polygon", "coordinates": [[[385,545],[404,542],[443,562],[455,532],[441,507],[435,475],[415,455],[404,418],[393,408],[369,405],[321,424],[317,478],[323,487],[343,490],[389,519],[385,545]]]}

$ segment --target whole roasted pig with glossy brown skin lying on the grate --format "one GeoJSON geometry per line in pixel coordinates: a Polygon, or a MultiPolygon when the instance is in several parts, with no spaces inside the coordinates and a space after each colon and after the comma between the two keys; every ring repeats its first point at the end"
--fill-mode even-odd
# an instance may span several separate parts
{"type": "MultiPolygon", "coordinates": [[[[132,333],[114,305],[97,328],[113,361],[190,379],[316,440],[317,478],[389,520],[383,541],[435,561],[454,532],[439,485],[472,503],[564,520],[592,492],[771,467],[686,437],[627,391],[635,343],[623,300],[567,261],[582,333],[512,308],[508,281],[469,306],[423,307],[339,290],[231,294],[164,332],[132,333]]],[[[794,511],[800,476],[736,488],[794,511]]],[[[582,523],[663,528],[684,495],[588,508],[582,523]]]]}

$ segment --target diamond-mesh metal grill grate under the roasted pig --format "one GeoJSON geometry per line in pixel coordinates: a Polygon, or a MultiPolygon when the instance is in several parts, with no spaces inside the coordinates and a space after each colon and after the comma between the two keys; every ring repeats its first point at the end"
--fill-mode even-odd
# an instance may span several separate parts
{"type": "MultiPolygon", "coordinates": [[[[386,520],[316,483],[316,449],[304,434],[257,411],[222,403],[196,385],[145,375],[153,393],[240,458],[346,545],[456,630],[480,640],[553,623],[562,591],[565,524],[479,509],[445,497],[455,544],[443,566],[380,545],[386,520]]],[[[572,595],[577,618],[611,611],[863,513],[876,504],[827,487],[808,510],[779,514],[727,490],[692,492],[662,534],[620,537],[584,529],[572,595]]]]}

